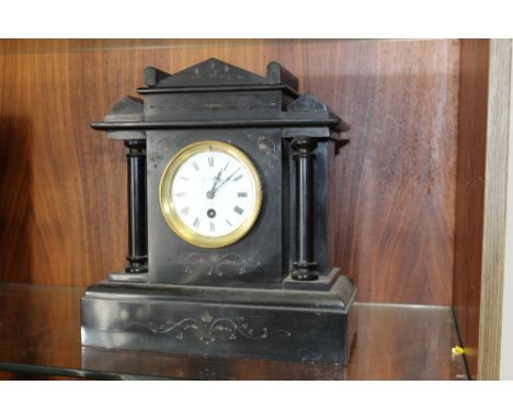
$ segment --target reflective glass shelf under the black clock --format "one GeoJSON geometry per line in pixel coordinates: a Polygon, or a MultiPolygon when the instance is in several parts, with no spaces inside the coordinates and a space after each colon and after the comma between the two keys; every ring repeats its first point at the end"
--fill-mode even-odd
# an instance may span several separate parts
{"type": "MultiPolygon", "coordinates": [[[[82,348],[84,288],[0,282],[0,370],[93,380],[466,380],[449,307],[356,304],[347,366],[82,348]]],[[[1,375],[0,375],[1,377],[1,375]]]]}

